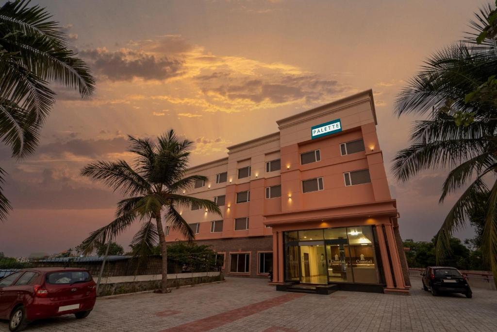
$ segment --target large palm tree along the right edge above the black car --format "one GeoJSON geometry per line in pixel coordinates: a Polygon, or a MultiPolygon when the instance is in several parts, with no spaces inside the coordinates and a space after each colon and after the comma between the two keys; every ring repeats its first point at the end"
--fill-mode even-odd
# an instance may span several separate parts
{"type": "Polygon", "coordinates": [[[495,24],[488,5],[471,21],[465,40],[436,52],[398,95],[395,112],[417,113],[411,145],[394,158],[393,171],[408,181],[427,169],[450,169],[440,204],[464,188],[436,234],[437,261],[449,250],[452,233],[464,227],[482,200],[482,252],[497,284],[497,40],[478,37],[495,24]],[[477,37],[479,38],[476,41],[477,37]]]}

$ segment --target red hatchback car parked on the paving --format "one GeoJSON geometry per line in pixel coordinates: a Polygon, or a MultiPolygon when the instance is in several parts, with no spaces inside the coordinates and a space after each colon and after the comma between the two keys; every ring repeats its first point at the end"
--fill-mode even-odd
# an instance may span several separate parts
{"type": "Polygon", "coordinates": [[[9,320],[10,331],[48,317],[74,314],[85,318],[95,300],[95,282],[84,269],[40,267],[0,279],[0,319],[9,320]]]}

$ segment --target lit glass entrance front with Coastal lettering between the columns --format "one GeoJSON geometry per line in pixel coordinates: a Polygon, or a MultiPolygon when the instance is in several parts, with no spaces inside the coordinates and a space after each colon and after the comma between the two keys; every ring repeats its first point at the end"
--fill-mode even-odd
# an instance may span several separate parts
{"type": "Polygon", "coordinates": [[[285,280],[378,284],[372,226],[285,232],[285,280]]]}

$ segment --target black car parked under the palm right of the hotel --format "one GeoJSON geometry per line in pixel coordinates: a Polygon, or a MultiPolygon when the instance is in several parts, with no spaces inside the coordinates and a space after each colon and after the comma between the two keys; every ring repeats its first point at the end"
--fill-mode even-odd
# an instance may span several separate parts
{"type": "Polygon", "coordinates": [[[473,297],[466,277],[454,267],[428,266],[420,273],[425,291],[431,291],[433,296],[440,292],[461,293],[467,298],[473,297]]]}

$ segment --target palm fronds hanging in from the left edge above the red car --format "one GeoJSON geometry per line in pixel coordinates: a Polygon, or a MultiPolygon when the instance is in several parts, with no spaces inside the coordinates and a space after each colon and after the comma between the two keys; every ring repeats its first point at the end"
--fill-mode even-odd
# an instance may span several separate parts
{"type": "MultiPolygon", "coordinates": [[[[55,102],[50,82],[78,89],[82,97],[95,86],[59,23],[44,8],[28,4],[17,0],[0,7],[0,138],[18,159],[31,155],[38,144],[55,102]]],[[[11,209],[1,193],[4,175],[0,168],[0,221],[11,209]]]]}

